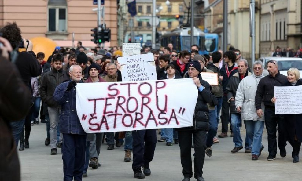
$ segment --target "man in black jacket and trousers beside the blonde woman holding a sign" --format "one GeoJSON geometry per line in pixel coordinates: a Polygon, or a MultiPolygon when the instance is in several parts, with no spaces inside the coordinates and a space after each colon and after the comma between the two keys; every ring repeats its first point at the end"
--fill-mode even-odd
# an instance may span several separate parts
{"type": "Polygon", "coordinates": [[[280,74],[278,71],[278,63],[274,60],[270,60],[267,63],[267,71],[269,75],[265,76],[259,81],[255,96],[255,107],[257,115],[261,118],[263,116],[263,110],[261,109],[261,102],[263,101],[265,126],[267,129],[267,141],[269,155],[267,160],[276,159],[277,154],[277,130],[278,125],[278,147],[280,149],[280,156],[286,156],[286,136],[285,136],[285,120],[282,115],[275,114],[275,106],[272,103],[274,97],[274,86],[281,86],[287,82],[285,75],[280,74]]]}

